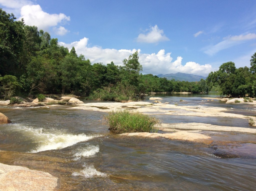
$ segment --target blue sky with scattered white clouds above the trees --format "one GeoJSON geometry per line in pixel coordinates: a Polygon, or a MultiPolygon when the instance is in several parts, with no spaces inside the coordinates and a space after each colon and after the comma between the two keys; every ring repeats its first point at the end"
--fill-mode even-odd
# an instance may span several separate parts
{"type": "Polygon", "coordinates": [[[143,74],[208,76],[229,61],[250,67],[256,52],[255,0],[0,0],[0,7],[92,64],[122,65],[138,51],[143,74]]]}

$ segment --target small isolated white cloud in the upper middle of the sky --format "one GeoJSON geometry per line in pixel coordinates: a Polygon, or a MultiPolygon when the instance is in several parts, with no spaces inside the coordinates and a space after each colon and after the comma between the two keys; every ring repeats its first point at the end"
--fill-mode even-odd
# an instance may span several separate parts
{"type": "Polygon", "coordinates": [[[161,41],[170,40],[163,34],[163,30],[160,30],[157,25],[155,27],[151,27],[150,32],[147,34],[139,34],[137,41],[138,42],[146,42],[146,43],[157,43],[161,41]]]}

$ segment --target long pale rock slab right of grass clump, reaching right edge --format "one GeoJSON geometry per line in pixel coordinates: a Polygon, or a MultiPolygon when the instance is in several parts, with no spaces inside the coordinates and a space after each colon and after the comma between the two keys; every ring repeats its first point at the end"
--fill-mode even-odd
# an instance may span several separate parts
{"type": "Polygon", "coordinates": [[[202,130],[202,131],[234,131],[243,133],[256,133],[255,128],[244,127],[228,127],[212,125],[207,123],[162,123],[159,130],[161,131],[173,131],[173,129],[186,129],[186,130],[202,130]]]}

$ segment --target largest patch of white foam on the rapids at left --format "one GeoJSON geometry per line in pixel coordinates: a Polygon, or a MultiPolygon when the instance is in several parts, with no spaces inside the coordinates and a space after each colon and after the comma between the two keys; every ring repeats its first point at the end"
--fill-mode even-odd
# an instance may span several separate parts
{"type": "Polygon", "coordinates": [[[12,131],[21,132],[25,136],[30,137],[34,143],[38,143],[38,147],[31,150],[30,153],[41,151],[63,149],[72,146],[78,142],[87,141],[100,135],[70,134],[58,129],[34,128],[28,126],[15,125],[12,131]]]}

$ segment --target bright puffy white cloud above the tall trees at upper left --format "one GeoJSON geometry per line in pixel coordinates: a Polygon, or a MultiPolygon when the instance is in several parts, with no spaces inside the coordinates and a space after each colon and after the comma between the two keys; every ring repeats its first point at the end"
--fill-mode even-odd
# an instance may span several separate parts
{"type": "Polygon", "coordinates": [[[63,13],[49,14],[42,10],[40,5],[25,5],[21,8],[20,19],[24,18],[25,24],[35,25],[38,29],[48,30],[49,27],[55,27],[59,23],[69,21],[70,17],[63,13]]]}

